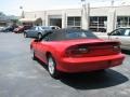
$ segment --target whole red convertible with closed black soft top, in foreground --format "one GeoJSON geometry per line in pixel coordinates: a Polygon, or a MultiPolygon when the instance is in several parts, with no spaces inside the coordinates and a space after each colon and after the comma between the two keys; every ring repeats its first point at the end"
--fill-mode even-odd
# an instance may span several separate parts
{"type": "Polygon", "coordinates": [[[121,65],[125,58],[119,42],[98,39],[91,31],[81,29],[44,32],[42,39],[32,40],[30,48],[32,58],[48,65],[53,78],[57,78],[61,71],[104,70],[121,65]]]}

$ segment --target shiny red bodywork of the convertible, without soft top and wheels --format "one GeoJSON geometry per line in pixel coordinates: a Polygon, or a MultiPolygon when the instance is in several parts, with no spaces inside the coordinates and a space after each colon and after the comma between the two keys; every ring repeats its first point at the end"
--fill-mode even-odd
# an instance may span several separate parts
{"type": "Polygon", "coordinates": [[[114,46],[119,45],[119,42],[101,39],[32,41],[30,45],[35,50],[36,57],[47,65],[47,53],[50,53],[56,61],[56,69],[64,72],[107,69],[121,65],[125,58],[120,48],[114,48],[114,46]],[[87,47],[88,51],[80,54],[80,52],[77,52],[79,47],[87,47]]]}

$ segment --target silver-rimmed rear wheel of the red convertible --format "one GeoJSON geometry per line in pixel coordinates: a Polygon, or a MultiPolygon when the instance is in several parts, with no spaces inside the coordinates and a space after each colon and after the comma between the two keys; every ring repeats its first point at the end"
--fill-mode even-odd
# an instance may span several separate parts
{"type": "Polygon", "coordinates": [[[55,59],[51,55],[48,56],[48,71],[54,79],[57,79],[60,77],[60,72],[56,70],[55,59]]]}

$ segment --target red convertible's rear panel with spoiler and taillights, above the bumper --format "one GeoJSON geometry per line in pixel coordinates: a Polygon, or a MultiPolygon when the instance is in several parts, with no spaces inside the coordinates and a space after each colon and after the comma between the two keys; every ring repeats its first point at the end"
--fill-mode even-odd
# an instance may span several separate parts
{"type": "Polygon", "coordinates": [[[65,52],[66,55],[73,57],[106,56],[120,53],[119,42],[116,41],[69,41],[66,45],[68,45],[65,52]]]}

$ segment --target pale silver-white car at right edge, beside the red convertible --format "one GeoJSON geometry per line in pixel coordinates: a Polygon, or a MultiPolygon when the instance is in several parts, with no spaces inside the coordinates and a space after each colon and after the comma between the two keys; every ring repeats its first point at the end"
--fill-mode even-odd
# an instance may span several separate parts
{"type": "Polygon", "coordinates": [[[107,33],[107,36],[102,36],[102,39],[108,39],[114,41],[120,41],[122,50],[130,51],[130,28],[123,27],[115,29],[114,31],[107,33]]]}

